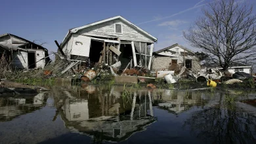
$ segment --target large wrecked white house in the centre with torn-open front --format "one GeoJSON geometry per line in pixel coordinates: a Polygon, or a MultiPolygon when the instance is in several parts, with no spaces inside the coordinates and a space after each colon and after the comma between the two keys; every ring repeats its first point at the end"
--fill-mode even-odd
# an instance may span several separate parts
{"type": "Polygon", "coordinates": [[[70,29],[60,47],[70,60],[85,61],[89,58],[90,62],[96,63],[102,62],[100,58],[103,55],[106,56],[103,61],[108,65],[119,59],[123,68],[132,62],[133,66],[150,69],[156,41],[156,37],[125,18],[115,16],[70,29]],[[108,51],[110,46],[112,50],[108,51]]]}

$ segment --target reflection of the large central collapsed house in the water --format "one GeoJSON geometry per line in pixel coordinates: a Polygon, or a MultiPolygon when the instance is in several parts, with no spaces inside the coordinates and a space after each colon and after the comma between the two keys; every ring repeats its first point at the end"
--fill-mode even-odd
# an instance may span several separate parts
{"type": "Polygon", "coordinates": [[[133,92],[124,98],[119,88],[95,90],[89,97],[65,100],[60,115],[67,128],[93,138],[102,134],[106,141],[123,141],[156,121],[148,91],[133,92]]]}

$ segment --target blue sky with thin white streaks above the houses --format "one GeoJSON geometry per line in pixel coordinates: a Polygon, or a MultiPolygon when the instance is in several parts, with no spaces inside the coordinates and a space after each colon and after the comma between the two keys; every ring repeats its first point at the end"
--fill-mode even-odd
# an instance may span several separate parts
{"type": "MultiPolygon", "coordinates": [[[[244,1],[244,0],[240,0],[244,1]]],[[[255,5],[255,0],[247,0],[255,5]]],[[[202,16],[205,0],[129,0],[129,1],[57,1],[1,0],[0,35],[12,33],[29,41],[46,43],[49,52],[56,52],[54,40],[61,43],[68,29],[123,16],[136,26],[158,38],[155,50],[179,43],[194,52],[182,36],[202,16]]],[[[256,7],[253,9],[256,13],[256,7]]]]}

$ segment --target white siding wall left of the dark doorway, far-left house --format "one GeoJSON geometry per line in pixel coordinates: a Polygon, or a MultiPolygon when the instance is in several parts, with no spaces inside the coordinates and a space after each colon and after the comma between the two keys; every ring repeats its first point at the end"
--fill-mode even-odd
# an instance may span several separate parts
{"type": "Polygon", "coordinates": [[[12,53],[12,67],[27,68],[28,67],[28,53],[22,50],[16,50],[12,53]]]}

